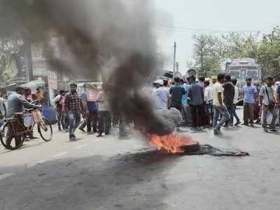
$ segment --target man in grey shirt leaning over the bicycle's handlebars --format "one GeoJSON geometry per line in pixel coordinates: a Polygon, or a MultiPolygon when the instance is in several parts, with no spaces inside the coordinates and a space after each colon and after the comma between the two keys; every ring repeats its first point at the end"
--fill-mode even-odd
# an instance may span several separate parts
{"type": "MultiPolygon", "coordinates": [[[[25,97],[22,96],[24,91],[23,87],[15,87],[15,92],[10,94],[8,97],[8,113],[7,118],[13,118],[14,113],[22,113],[24,109],[36,109],[38,106],[27,102],[25,97]]],[[[30,116],[23,116],[25,118],[30,118],[30,116]]],[[[10,125],[11,126],[11,125],[10,125]]],[[[6,144],[10,145],[10,142],[13,140],[13,127],[8,127],[8,132],[6,135],[6,144]]],[[[15,137],[15,145],[20,144],[20,137],[15,137]]]]}

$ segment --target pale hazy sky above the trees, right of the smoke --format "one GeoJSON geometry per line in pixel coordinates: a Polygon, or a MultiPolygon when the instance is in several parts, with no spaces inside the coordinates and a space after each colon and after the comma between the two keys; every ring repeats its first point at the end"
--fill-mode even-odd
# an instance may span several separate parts
{"type": "Polygon", "coordinates": [[[153,29],[167,70],[173,68],[174,41],[179,69],[186,73],[192,59],[194,34],[228,31],[268,33],[280,24],[279,0],[153,0],[157,17],[153,29]]]}

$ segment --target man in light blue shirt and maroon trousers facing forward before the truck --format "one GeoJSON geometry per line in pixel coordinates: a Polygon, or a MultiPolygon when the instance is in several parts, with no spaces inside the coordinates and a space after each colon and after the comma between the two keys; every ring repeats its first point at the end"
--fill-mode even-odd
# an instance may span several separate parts
{"type": "Polygon", "coordinates": [[[253,126],[254,104],[258,92],[255,89],[255,86],[252,85],[251,78],[246,78],[246,85],[244,85],[242,89],[244,92],[244,125],[250,123],[251,126],[253,126]]]}

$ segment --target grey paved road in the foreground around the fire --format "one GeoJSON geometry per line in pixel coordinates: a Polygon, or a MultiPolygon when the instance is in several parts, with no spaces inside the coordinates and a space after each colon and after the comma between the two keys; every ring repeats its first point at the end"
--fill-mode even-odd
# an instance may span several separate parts
{"type": "Polygon", "coordinates": [[[78,134],[75,142],[55,132],[48,143],[0,148],[0,209],[279,209],[280,134],[224,132],[187,130],[201,144],[251,156],[169,155],[137,132],[129,140],[78,134]]]}

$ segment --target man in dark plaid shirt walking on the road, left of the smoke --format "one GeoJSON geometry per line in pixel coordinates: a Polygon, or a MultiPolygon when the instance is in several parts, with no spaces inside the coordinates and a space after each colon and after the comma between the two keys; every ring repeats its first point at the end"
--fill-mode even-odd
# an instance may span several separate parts
{"type": "Polygon", "coordinates": [[[71,83],[70,92],[65,96],[65,108],[69,118],[69,139],[76,141],[75,130],[80,123],[80,112],[82,111],[82,104],[77,92],[77,84],[71,83]]]}

